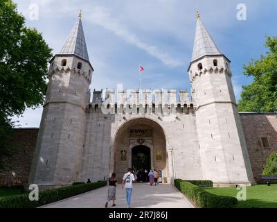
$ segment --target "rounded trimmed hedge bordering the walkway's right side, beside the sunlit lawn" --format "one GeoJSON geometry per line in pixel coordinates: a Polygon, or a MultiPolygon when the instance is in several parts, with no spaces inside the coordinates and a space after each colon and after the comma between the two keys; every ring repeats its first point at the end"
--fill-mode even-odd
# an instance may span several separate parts
{"type": "Polygon", "coordinates": [[[188,181],[176,179],[174,182],[182,193],[186,194],[202,208],[232,208],[238,203],[238,200],[234,197],[210,194],[188,181]]]}

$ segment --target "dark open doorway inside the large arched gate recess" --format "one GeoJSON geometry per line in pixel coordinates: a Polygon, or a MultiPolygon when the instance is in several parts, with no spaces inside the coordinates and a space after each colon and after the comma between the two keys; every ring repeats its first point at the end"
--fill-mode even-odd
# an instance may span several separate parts
{"type": "Polygon", "coordinates": [[[132,169],[136,171],[138,181],[148,181],[147,173],[151,169],[151,151],[148,146],[135,146],[132,148],[132,169]]]}

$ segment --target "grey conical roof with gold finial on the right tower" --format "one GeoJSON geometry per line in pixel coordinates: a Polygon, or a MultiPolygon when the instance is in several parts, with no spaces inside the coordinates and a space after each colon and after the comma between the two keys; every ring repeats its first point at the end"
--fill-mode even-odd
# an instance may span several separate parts
{"type": "Polygon", "coordinates": [[[193,57],[191,61],[195,61],[202,56],[208,55],[222,55],[220,49],[213,41],[213,38],[206,30],[204,24],[201,22],[199,12],[197,12],[197,24],[195,33],[195,45],[193,47],[193,57]]]}

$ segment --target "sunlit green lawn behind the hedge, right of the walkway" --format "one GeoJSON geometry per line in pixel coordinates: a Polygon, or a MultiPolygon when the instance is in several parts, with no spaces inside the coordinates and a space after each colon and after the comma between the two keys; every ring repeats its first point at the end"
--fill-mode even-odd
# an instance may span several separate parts
{"type": "MultiPolygon", "coordinates": [[[[228,188],[202,188],[211,194],[236,197],[238,189],[228,188]]],[[[237,207],[277,208],[277,185],[255,185],[247,187],[247,200],[238,201],[237,207]]]]}

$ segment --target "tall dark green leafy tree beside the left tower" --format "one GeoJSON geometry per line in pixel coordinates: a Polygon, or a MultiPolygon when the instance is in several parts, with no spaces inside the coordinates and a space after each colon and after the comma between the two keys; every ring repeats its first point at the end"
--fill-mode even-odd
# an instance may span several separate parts
{"type": "Polygon", "coordinates": [[[0,155],[8,155],[10,117],[44,101],[51,49],[11,0],[0,0],[0,155]]]}

